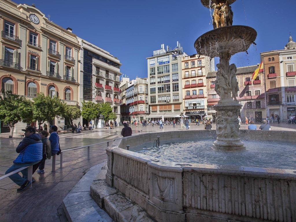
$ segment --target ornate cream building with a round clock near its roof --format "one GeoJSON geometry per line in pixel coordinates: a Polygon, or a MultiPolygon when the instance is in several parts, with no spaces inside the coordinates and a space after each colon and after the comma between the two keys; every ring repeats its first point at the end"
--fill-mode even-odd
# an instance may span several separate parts
{"type": "MultiPolygon", "coordinates": [[[[77,36],[49,21],[34,6],[0,0],[0,84],[2,90],[32,100],[36,93],[59,96],[69,105],[78,103],[79,49],[77,36]]],[[[62,118],[51,124],[62,128],[62,118]]],[[[23,128],[18,123],[15,130],[23,128]]],[[[9,131],[1,123],[1,132],[9,131]]]]}

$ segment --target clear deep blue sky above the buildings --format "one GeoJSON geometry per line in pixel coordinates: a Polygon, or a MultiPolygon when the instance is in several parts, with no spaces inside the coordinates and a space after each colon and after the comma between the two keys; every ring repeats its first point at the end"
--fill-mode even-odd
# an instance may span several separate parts
{"type": "MultiPolygon", "coordinates": [[[[32,4],[32,0],[15,0],[32,4]]],[[[237,67],[260,62],[260,52],[283,49],[291,32],[296,41],[295,7],[292,0],[237,0],[231,7],[233,25],[248,25],[258,35],[257,46],[231,57],[237,67]]],[[[130,78],[147,77],[147,57],[164,44],[195,54],[194,41],[212,30],[209,9],[199,0],[51,0],[35,1],[50,20],[70,27],[73,33],[107,50],[123,64],[120,71],[130,78]]],[[[218,59],[215,59],[215,63],[218,59]]]]}

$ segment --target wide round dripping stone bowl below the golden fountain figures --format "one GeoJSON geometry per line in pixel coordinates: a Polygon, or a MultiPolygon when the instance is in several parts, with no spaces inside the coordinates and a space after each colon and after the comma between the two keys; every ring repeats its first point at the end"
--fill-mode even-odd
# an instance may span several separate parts
{"type": "Polygon", "coordinates": [[[255,29],[244,25],[232,25],[216,28],[203,34],[194,43],[197,54],[218,57],[223,53],[230,56],[245,52],[255,41],[255,29]]]}

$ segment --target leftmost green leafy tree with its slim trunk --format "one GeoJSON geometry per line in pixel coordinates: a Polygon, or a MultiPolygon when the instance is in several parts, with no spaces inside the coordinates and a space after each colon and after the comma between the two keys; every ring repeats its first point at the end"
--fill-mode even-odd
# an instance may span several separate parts
{"type": "Polygon", "coordinates": [[[12,138],[16,123],[32,121],[32,102],[11,91],[3,92],[0,96],[0,120],[9,126],[9,138],[12,138]]]}

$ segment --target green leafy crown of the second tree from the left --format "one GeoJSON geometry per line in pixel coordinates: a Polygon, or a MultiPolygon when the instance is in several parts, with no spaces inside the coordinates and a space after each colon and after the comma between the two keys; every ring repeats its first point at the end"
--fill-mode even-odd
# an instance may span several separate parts
{"type": "Polygon", "coordinates": [[[51,98],[43,93],[37,93],[33,100],[33,120],[38,122],[39,128],[45,121],[53,120],[62,114],[63,103],[59,97],[51,98]]]}

